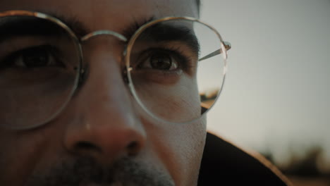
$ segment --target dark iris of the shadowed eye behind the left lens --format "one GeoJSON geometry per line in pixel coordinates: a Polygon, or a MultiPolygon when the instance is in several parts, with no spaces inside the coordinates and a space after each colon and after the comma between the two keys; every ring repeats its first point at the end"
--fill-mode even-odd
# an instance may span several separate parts
{"type": "Polygon", "coordinates": [[[23,54],[23,63],[30,68],[47,66],[49,63],[49,53],[44,49],[25,51],[23,54]]]}

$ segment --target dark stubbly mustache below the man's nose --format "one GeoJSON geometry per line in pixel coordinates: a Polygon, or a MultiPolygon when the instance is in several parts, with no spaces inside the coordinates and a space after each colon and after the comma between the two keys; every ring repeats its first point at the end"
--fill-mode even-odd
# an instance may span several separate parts
{"type": "Polygon", "coordinates": [[[173,186],[168,174],[129,158],[122,158],[104,166],[91,157],[62,161],[47,171],[34,173],[25,186],[58,185],[159,185],[173,186]]]}

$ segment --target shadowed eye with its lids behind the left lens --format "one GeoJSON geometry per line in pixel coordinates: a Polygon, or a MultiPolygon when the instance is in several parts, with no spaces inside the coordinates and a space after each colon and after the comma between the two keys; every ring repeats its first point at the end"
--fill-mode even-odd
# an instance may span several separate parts
{"type": "Polygon", "coordinates": [[[75,73],[71,61],[68,51],[60,44],[37,39],[4,42],[0,44],[0,79],[6,85],[35,85],[55,80],[75,73]]]}

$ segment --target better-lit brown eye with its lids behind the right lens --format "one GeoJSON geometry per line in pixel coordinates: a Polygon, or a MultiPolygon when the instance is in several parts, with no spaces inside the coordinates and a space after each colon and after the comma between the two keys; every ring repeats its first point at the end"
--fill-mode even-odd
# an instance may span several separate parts
{"type": "Polygon", "coordinates": [[[180,43],[141,44],[130,56],[131,74],[145,82],[172,84],[196,73],[197,58],[190,47],[180,43]],[[149,47],[144,47],[148,46],[149,47]]]}

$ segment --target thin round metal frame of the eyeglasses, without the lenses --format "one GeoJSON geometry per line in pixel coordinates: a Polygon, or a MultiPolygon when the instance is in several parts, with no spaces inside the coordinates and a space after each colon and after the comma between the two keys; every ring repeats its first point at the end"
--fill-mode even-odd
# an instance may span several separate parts
{"type": "MultiPolygon", "coordinates": [[[[121,40],[122,42],[126,42],[126,49],[124,49],[124,51],[123,51],[123,57],[125,59],[126,69],[124,70],[123,73],[124,73],[124,75],[126,75],[127,84],[128,84],[128,87],[130,88],[131,94],[133,94],[133,97],[138,102],[139,106],[141,106],[142,109],[149,116],[151,116],[152,118],[154,118],[156,120],[160,120],[163,123],[173,124],[173,122],[161,119],[157,116],[154,116],[154,113],[152,113],[151,111],[149,111],[149,109],[147,109],[145,107],[145,105],[142,103],[142,101],[138,97],[137,92],[135,92],[135,88],[134,88],[134,85],[132,83],[133,82],[132,77],[130,75],[130,71],[133,70],[133,68],[130,67],[130,53],[132,51],[133,44],[135,43],[135,40],[138,39],[138,37],[140,36],[140,33],[143,32],[144,30],[146,30],[148,27],[150,27],[151,25],[154,25],[156,23],[165,21],[165,20],[190,20],[190,21],[195,21],[195,22],[201,23],[202,25],[205,25],[205,26],[209,27],[209,29],[213,30],[214,33],[216,33],[217,37],[219,37],[219,41],[221,42],[221,49],[216,49],[211,54],[208,54],[207,56],[203,56],[202,58],[199,58],[198,61],[202,61],[204,59],[211,58],[212,56],[222,54],[224,56],[224,59],[225,59],[225,61],[224,61],[225,62],[224,72],[223,72],[224,80],[223,80],[223,82],[221,82],[221,89],[219,90],[219,92],[216,96],[216,99],[219,98],[219,94],[221,93],[221,91],[224,87],[224,81],[225,81],[226,69],[227,69],[227,62],[226,62],[226,59],[227,59],[227,56],[228,56],[227,51],[229,49],[231,49],[231,44],[229,42],[224,42],[221,35],[219,34],[219,32],[217,32],[214,29],[214,27],[212,27],[211,25],[208,25],[207,23],[202,22],[201,20],[198,20],[197,18],[191,18],[191,17],[165,17],[165,18],[160,18],[160,19],[157,19],[157,20],[152,20],[149,23],[145,23],[145,25],[142,25],[138,30],[135,31],[133,36],[128,40],[125,36],[119,34],[118,32],[114,32],[114,31],[111,31],[111,30],[97,30],[97,31],[94,31],[94,32],[90,32],[89,34],[79,38],[77,35],[75,35],[75,32],[73,32],[73,30],[71,30],[71,28],[68,27],[68,25],[63,23],[58,18],[55,18],[54,16],[50,16],[46,13],[40,13],[40,12],[35,12],[35,11],[25,11],[25,10],[13,10],[13,11],[5,11],[5,12],[0,13],[0,18],[1,17],[8,17],[8,16],[31,16],[31,17],[35,17],[35,18],[41,18],[41,19],[44,19],[44,20],[49,20],[52,23],[55,23],[56,25],[59,25],[61,28],[66,30],[66,32],[68,32],[68,35],[70,35],[70,37],[73,39],[73,41],[75,42],[75,48],[77,49],[78,54],[79,54],[79,64],[78,64],[79,66],[76,69],[78,73],[76,74],[76,77],[75,77],[74,86],[71,90],[71,94],[69,95],[68,99],[62,104],[62,106],[59,108],[59,110],[56,111],[55,113],[53,113],[51,116],[49,116],[49,119],[45,120],[43,123],[36,123],[35,125],[30,125],[30,126],[27,126],[25,128],[13,128],[15,130],[27,130],[27,129],[31,129],[31,128],[37,128],[40,125],[44,125],[45,123],[49,123],[49,121],[56,118],[56,116],[58,116],[59,113],[61,113],[61,111],[63,111],[63,109],[67,106],[68,102],[71,100],[71,97],[75,93],[76,89],[78,88],[78,83],[80,82],[80,79],[82,78],[82,75],[85,73],[85,70],[82,68],[82,63],[83,63],[82,42],[85,42],[88,39],[90,39],[92,37],[95,37],[97,35],[111,35],[111,36],[114,36],[117,39],[121,40]]],[[[214,100],[214,102],[215,101],[216,100],[214,100]]],[[[184,123],[192,123],[195,120],[199,120],[200,118],[202,118],[204,113],[207,113],[209,111],[209,109],[211,109],[213,106],[214,106],[214,104],[212,104],[212,106],[210,106],[207,109],[207,111],[204,111],[199,118],[195,118],[193,120],[189,120],[189,121],[184,122],[184,123]]],[[[181,124],[183,124],[183,123],[181,123],[181,124]]]]}

